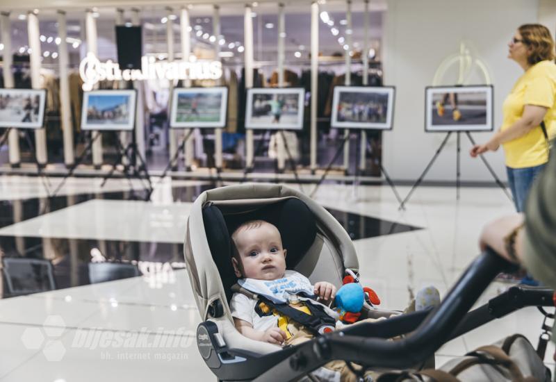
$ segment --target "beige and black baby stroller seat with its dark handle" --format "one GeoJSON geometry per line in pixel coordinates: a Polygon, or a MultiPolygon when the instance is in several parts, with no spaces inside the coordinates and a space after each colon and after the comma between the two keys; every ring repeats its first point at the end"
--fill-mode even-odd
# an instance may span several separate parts
{"type": "Polygon", "coordinates": [[[423,365],[445,342],[524,306],[554,306],[553,290],[510,288],[469,312],[502,270],[512,269],[490,251],[468,267],[440,306],[390,317],[393,312],[363,306],[361,319],[390,317],[347,326],[292,347],[251,340],[235,328],[228,303],[237,281],[231,267],[231,232],[242,222],[275,224],[288,249],[287,269],[311,283],[327,280],[337,288],[358,261],[349,236],[315,201],[283,185],[243,184],[203,192],[191,210],[184,253],[203,322],[197,346],[220,381],[295,381],[330,360],[363,369],[409,369],[423,365]],[[409,334],[408,334],[409,333],[409,334]],[[389,340],[404,335],[399,340],[389,340]]]}

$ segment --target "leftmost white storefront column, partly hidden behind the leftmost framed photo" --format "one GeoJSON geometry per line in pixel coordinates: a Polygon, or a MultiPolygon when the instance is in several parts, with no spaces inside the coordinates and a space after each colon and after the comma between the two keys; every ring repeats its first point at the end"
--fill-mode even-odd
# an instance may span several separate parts
{"type": "MultiPolygon", "coordinates": [[[[12,67],[12,38],[10,28],[10,13],[0,13],[0,27],[2,44],[4,44],[3,54],[3,80],[4,88],[11,89],[14,87],[13,73],[11,70],[6,70],[12,67]]],[[[21,162],[21,155],[19,153],[19,134],[17,128],[12,128],[8,133],[8,148],[10,150],[10,165],[18,167],[21,162]]]]}

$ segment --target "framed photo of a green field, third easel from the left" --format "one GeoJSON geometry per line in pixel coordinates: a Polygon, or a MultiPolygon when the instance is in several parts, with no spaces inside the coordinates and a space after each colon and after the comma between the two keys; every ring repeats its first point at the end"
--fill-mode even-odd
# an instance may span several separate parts
{"type": "Polygon", "coordinates": [[[170,127],[224,127],[228,88],[175,88],[170,127]]]}

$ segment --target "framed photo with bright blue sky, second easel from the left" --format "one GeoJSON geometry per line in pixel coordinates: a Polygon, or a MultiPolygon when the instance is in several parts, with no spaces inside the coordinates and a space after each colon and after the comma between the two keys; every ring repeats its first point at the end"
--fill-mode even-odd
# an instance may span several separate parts
{"type": "Polygon", "coordinates": [[[133,130],[137,93],[135,90],[93,90],[83,93],[83,130],[133,130]]]}

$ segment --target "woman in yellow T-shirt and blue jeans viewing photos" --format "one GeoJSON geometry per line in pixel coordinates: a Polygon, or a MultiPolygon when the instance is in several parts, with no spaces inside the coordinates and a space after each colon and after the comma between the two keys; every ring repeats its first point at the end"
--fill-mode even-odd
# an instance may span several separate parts
{"type": "Polygon", "coordinates": [[[502,144],[509,187],[516,210],[521,212],[534,178],[548,162],[548,140],[556,135],[554,40],[546,26],[525,24],[508,46],[508,57],[525,73],[504,101],[500,130],[486,144],[476,144],[470,153],[475,158],[498,150],[502,144]]]}

